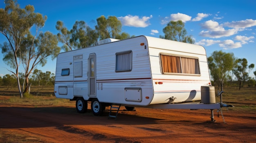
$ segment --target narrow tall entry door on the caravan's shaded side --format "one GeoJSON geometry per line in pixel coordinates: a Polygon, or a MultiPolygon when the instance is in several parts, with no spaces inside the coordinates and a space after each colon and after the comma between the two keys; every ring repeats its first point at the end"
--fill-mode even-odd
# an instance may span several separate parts
{"type": "Polygon", "coordinates": [[[88,59],[88,85],[89,96],[96,97],[96,55],[95,53],[89,55],[88,59]]]}

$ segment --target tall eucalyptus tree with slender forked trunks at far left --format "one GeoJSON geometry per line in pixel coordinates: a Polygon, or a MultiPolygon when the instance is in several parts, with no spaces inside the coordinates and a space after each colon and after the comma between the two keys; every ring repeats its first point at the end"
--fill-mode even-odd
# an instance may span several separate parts
{"type": "Polygon", "coordinates": [[[20,65],[25,70],[24,92],[28,92],[28,77],[31,71],[38,64],[44,66],[47,62],[46,58],[50,55],[54,59],[60,52],[60,47],[57,46],[56,35],[50,32],[38,35],[38,30],[44,26],[47,16],[35,13],[32,5],[27,5],[24,9],[20,8],[17,0],[4,0],[4,3],[5,9],[0,9],[0,33],[7,38],[8,42],[4,42],[1,46],[4,54],[3,61],[15,69],[15,71],[9,71],[16,76],[22,98],[23,88],[20,86],[18,73],[20,65]],[[34,30],[34,35],[31,30],[34,30]]]}

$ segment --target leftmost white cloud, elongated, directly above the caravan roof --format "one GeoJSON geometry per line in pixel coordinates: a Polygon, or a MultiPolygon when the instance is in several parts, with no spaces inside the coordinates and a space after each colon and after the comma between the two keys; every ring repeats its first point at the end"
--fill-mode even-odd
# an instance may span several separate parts
{"type": "Polygon", "coordinates": [[[153,18],[152,15],[150,17],[143,16],[142,18],[139,18],[139,16],[135,15],[127,15],[125,17],[118,17],[118,19],[121,21],[121,23],[124,26],[133,26],[133,27],[147,27],[150,25],[150,18],[153,18]]]}

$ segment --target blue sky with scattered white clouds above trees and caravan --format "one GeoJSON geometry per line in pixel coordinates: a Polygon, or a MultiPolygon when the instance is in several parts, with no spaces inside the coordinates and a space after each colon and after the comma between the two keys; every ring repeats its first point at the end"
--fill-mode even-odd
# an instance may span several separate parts
{"type": "MultiPolygon", "coordinates": [[[[159,37],[168,22],[182,20],[188,35],[195,44],[204,46],[207,56],[222,50],[256,65],[256,0],[18,0],[18,4],[21,8],[33,5],[35,12],[47,15],[40,31],[53,34],[58,33],[58,20],[68,29],[76,20],[94,29],[97,18],[104,15],[116,16],[123,25],[122,32],[159,37]]],[[[0,8],[4,7],[2,0],[0,8]]],[[[0,44],[4,41],[7,39],[0,34],[0,44]]],[[[0,76],[11,74],[7,68],[14,70],[2,58],[0,53],[0,76]]],[[[55,73],[55,64],[56,59],[49,57],[46,66],[36,68],[55,73]]],[[[255,77],[253,71],[251,77],[255,77]]],[[[22,66],[20,72],[24,72],[22,66]]]]}

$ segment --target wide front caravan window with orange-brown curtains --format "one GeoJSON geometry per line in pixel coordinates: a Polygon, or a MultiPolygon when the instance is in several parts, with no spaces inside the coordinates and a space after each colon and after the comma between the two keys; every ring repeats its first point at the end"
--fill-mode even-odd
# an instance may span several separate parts
{"type": "Polygon", "coordinates": [[[199,62],[196,58],[162,55],[162,73],[184,73],[200,75],[199,62]]]}

